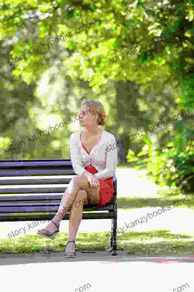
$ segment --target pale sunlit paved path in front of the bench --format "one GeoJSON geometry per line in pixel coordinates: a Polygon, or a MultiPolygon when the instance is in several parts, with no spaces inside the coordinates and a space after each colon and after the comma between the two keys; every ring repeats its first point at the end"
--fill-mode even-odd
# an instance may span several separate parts
{"type": "Polygon", "coordinates": [[[178,291],[191,292],[193,262],[194,255],[131,256],[127,251],[118,251],[118,256],[78,251],[76,258],[64,258],[64,253],[0,255],[1,287],[29,292],[173,292],[180,287],[178,291]],[[189,287],[180,290],[186,283],[189,287]]]}

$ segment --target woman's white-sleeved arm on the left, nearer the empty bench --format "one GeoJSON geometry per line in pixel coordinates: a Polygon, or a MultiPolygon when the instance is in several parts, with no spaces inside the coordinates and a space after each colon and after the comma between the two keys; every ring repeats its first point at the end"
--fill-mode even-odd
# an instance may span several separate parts
{"type": "Polygon", "coordinates": [[[81,162],[81,154],[78,146],[76,145],[75,135],[76,133],[73,133],[70,137],[70,158],[75,173],[77,175],[82,175],[86,170],[83,168],[83,164],[81,162]]]}

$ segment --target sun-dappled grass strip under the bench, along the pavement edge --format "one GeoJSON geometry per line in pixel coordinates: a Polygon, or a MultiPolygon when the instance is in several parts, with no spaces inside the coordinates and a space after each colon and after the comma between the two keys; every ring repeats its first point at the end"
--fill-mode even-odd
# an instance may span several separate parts
{"type": "MultiPolygon", "coordinates": [[[[1,239],[0,253],[39,253],[45,249],[62,252],[68,240],[69,234],[64,232],[60,232],[55,241],[26,234],[17,239],[1,239]]],[[[194,253],[193,237],[172,234],[169,230],[117,233],[117,244],[118,250],[128,250],[131,255],[194,253]]],[[[109,248],[110,234],[107,232],[78,233],[76,237],[76,250],[105,251],[109,248]]]]}

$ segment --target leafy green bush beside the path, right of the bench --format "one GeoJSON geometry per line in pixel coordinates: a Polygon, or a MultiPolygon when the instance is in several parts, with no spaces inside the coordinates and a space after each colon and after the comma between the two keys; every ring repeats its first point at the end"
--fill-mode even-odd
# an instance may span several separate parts
{"type": "Polygon", "coordinates": [[[165,148],[156,147],[150,140],[144,138],[148,143],[148,149],[142,147],[137,155],[133,151],[127,154],[127,162],[136,161],[135,168],[147,169],[147,177],[159,185],[175,187],[177,192],[194,191],[194,142],[189,140],[193,130],[184,129],[176,134],[165,148]]]}

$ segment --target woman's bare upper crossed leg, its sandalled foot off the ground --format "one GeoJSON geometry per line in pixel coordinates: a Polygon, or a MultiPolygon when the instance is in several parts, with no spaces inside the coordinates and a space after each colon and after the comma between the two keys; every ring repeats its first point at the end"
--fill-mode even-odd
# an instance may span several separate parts
{"type": "MultiPolygon", "coordinates": [[[[67,190],[65,191],[61,202],[58,212],[53,217],[53,221],[57,225],[60,225],[61,219],[64,217],[64,215],[70,210],[79,190],[86,190],[88,192],[89,197],[93,196],[98,197],[99,196],[99,190],[97,188],[91,188],[88,182],[88,178],[86,176],[76,175],[74,178],[72,178],[71,182],[69,183],[69,186],[67,190]]],[[[52,223],[52,221],[46,226],[46,231],[49,232],[55,232],[56,225],[52,223]]],[[[41,232],[46,234],[45,230],[42,230],[41,232]]]]}

